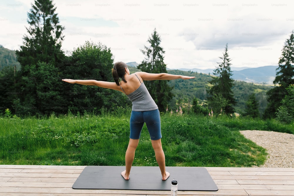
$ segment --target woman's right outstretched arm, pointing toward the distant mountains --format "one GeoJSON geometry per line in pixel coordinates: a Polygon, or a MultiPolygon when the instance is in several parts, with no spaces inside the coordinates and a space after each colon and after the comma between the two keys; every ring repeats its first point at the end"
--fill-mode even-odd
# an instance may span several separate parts
{"type": "Polygon", "coordinates": [[[174,75],[169,73],[146,73],[146,72],[136,72],[137,75],[141,76],[143,80],[175,80],[175,79],[192,79],[194,76],[182,76],[174,75]]]}

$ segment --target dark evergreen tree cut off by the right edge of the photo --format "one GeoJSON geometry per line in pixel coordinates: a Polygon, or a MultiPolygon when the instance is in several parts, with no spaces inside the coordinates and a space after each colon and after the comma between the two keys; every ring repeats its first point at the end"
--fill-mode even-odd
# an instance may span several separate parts
{"type": "Polygon", "coordinates": [[[278,84],[278,86],[267,93],[269,103],[265,110],[266,118],[275,117],[281,106],[281,101],[286,95],[286,88],[294,84],[294,31],[285,42],[277,70],[274,84],[278,84]]]}

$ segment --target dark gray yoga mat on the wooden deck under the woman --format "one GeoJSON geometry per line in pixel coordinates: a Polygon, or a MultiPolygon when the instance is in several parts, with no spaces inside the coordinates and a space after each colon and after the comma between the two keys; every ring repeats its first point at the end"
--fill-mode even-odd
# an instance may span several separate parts
{"type": "Polygon", "coordinates": [[[170,177],[163,181],[159,167],[133,166],[130,179],[121,172],[124,166],[87,166],[74,185],[74,189],[171,190],[173,178],[178,190],[217,191],[218,187],[204,167],[166,167],[170,177]]]}

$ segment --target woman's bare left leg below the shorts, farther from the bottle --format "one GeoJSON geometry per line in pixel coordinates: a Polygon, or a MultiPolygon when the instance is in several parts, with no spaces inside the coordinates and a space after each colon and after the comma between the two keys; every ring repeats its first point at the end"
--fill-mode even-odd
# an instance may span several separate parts
{"type": "Polygon", "coordinates": [[[121,172],[121,175],[123,176],[125,180],[130,179],[130,171],[134,161],[135,151],[138,146],[138,143],[139,143],[139,139],[137,140],[130,139],[129,141],[128,148],[126,151],[126,170],[121,172]]]}

